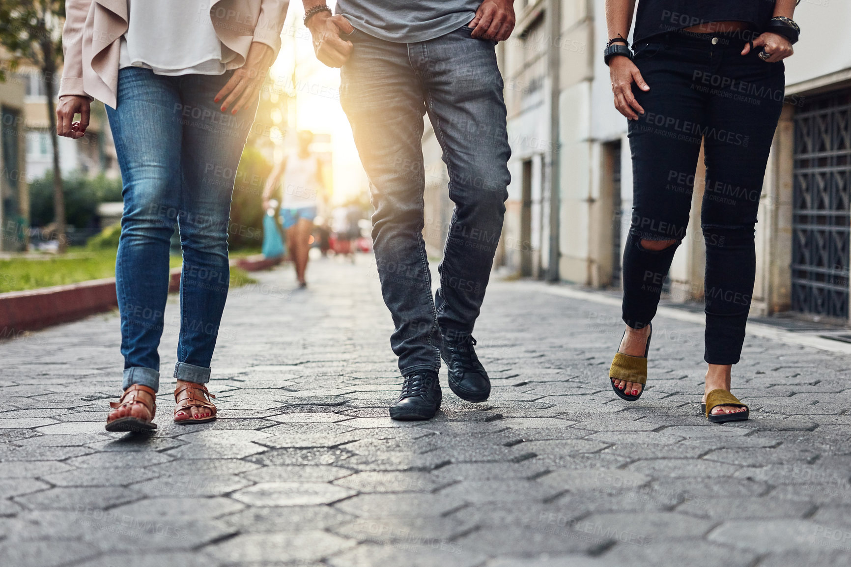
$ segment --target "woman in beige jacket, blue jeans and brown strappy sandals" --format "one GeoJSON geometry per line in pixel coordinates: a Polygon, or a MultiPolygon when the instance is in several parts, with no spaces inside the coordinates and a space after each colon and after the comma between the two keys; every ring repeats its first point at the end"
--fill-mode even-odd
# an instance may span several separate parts
{"type": "Polygon", "coordinates": [[[116,287],[124,392],[110,404],[107,431],[157,427],[157,347],[175,224],[183,272],[174,421],[215,419],[206,384],[230,281],[231,193],[288,3],[216,4],[66,1],[57,133],[82,138],[91,101],[103,101],[123,179],[116,287]]]}

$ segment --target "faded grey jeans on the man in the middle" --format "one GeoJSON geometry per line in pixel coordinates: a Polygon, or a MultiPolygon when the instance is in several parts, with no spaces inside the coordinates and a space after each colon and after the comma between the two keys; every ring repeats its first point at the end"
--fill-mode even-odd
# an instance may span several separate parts
{"type": "Polygon", "coordinates": [[[505,214],[511,156],[494,42],[461,27],[420,43],[391,43],[359,30],[342,68],[340,102],[372,192],[373,239],[384,301],[396,326],[393,352],[403,375],[440,368],[443,335],[469,335],[488,285],[505,214]],[[455,204],[449,226],[423,218],[428,113],[455,204]],[[423,228],[448,231],[431,296],[423,228]],[[442,335],[443,334],[443,335],[442,335]]]}

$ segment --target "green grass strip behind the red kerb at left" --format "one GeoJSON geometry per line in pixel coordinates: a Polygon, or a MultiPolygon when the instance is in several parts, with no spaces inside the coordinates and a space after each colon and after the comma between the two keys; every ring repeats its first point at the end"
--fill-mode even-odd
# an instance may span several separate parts
{"type": "MultiPolygon", "coordinates": [[[[47,288],[115,276],[114,249],[71,248],[66,255],[27,255],[0,260],[0,293],[47,288]]],[[[179,267],[180,256],[171,256],[170,267],[179,267]]],[[[231,267],[231,288],[257,283],[248,272],[231,267]]]]}

